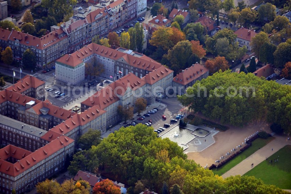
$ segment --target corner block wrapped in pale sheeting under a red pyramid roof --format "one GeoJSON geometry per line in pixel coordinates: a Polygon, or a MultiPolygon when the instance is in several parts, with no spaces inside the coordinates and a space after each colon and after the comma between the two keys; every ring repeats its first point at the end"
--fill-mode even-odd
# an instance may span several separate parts
{"type": "Polygon", "coordinates": [[[77,85],[85,80],[85,63],[71,54],[65,54],[56,61],[56,82],[77,85]]]}

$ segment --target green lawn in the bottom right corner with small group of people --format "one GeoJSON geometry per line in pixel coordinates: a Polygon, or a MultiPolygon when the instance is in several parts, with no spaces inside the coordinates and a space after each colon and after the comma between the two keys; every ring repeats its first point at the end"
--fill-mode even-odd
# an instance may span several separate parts
{"type": "Polygon", "coordinates": [[[267,161],[262,161],[244,175],[255,176],[256,178],[262,179],[265,184],[276,185],[281,189],[291,189],[290,153],[291,146],[286,145],[270,156],[267,161]],[[278,159],[276,163],[274,163],[275,158],[278,159]],[[272,159],[273,163],[269,163],[269,159],[272,159]]]}

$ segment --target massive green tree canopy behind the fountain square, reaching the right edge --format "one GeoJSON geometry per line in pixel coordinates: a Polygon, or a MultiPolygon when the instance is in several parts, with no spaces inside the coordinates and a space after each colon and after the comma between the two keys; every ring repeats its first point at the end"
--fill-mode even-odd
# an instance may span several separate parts
{"type": "Polygon", "coordinates": [[[178,97],[183,105],[195,112],[202,112],[206,117],[220,119],[223,123],[242,126],[267,118],[269,122],[280,124],[286,132],[291,130],[288,124],[291,87],[288,85],[260,79],[251,73],[238,74],[227,70],[196,82],[187,89],[187,94],[194,96],[178,97]],[[203,90],[198,93],[202,87],[206,87],[206,96],[203,90]]]}

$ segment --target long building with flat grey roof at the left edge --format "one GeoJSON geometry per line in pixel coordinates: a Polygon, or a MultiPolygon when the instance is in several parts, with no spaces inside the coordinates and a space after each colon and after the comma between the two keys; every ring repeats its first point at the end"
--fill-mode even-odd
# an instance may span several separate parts
{"type": "Polygon", "coordinates": [[[40,143],[40,137],[45,133],[40,128],[0,115],[2,146],[10,144],[33,152],[45,145],[40,143]]]}

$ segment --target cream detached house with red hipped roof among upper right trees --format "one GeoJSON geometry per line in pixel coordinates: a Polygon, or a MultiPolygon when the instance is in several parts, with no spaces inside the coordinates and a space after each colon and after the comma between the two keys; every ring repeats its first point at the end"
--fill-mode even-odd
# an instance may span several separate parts
{"type": "Polygon", "coordinates": [[[249,30],[249,29],[246,29],[246,28],[239,28],[234,33],[237,35],[236,41],[239,44],[238,46],[239,47],[246,46],[246,49],[248,51],[251,51],[252,50],[251,39],[253,37],[255,37],[255,35],[257,33],[255,31],[253,31],[253,30],[249,30]]]}

